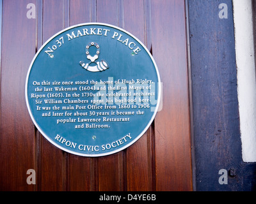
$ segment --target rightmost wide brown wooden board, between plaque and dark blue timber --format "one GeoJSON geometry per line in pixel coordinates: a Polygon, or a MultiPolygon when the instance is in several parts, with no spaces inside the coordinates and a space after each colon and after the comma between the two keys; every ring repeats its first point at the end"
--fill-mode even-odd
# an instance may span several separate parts
{"type": "Polygon", "coordinates": [[[152,0],[151,8],[152,50],[163,82],[163,110],[155,119],[156,189],[189,191],[192,180],[185,3],[152,0]]]}

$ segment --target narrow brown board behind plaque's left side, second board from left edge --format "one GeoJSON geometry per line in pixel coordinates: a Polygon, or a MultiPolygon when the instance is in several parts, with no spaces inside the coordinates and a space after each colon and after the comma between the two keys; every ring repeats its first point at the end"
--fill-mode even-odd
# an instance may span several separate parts
{"type": "MultiPolygon", "coordinates": [[[[65,0],[43,1],[43,43],[52,35],[64,29],[64,3],[65,0]]],[[[66,184],[65,154],[44,136],[39,134],[41,141],[41,187],[42,191],[63,191],[66,184]]]]}

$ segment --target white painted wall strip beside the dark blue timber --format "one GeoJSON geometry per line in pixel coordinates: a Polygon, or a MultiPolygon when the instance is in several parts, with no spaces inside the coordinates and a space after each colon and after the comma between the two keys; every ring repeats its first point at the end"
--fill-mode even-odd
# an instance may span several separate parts
{"type": "Polygon", "coordinates": [[[242,155],[256,162],[256,75],[252,0],[233,0],[242,155]]]}

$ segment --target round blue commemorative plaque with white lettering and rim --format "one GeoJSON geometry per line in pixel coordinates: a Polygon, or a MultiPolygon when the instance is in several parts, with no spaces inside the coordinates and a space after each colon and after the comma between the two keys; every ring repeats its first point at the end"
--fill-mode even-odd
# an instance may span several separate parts
{"type": "Polygon", "coordinates": [[[124,150],[156,116],[161,83],[140,40],[109,24],[68,27],[38,50],[26,78],[36,128],[79,156],[124,150]]]}

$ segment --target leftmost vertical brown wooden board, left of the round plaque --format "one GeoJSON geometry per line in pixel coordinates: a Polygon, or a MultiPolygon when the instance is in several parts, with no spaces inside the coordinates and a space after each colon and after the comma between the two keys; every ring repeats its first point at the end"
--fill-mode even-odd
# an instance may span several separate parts
{"type": "Polygon", "coordinates": [[[3,1],[0,110],[0,190],[33,191],[26,171],[35,169],[35,129],[24,87],[35,55],[35,19],[26,17],[29,1],[3,1]]]}

